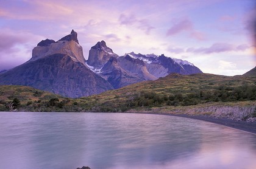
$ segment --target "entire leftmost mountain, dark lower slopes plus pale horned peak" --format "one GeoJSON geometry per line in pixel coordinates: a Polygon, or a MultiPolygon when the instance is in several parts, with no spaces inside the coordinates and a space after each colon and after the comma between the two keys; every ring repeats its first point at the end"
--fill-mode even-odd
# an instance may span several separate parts
{"type": "Polygon", "coordinates": [[[32,58],[0,74],[0,84],[31,86],[65,97],[84,97],[113,89],[104,78],[85,66],[82,47],[71,38],[41,41],[32,58]]]}

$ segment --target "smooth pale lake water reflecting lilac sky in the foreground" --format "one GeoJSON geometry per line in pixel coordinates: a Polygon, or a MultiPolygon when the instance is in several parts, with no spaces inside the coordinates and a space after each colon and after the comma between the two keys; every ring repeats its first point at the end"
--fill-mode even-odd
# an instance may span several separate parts
{"type": "Polygon", "coordinates": [[[256,135],[154,114],[0,112],[0,168],[255,168],[256,135]]]}

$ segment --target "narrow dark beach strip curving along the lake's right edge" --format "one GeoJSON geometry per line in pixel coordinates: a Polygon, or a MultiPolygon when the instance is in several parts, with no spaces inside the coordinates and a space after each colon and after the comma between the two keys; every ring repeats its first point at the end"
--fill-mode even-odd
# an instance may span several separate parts
{"type": "Polygon", "coordinates": [[[165,116],[177,116],[177,117],[186,117],[190,119],[204,120],[206,122],[216,123],[218,125],[224,125],[235,129],[240,129],[247,131],[249,133],[256,134],[256,122],[246,122],[246,121],[235,121],[231,119],[221,119],[214,118],[209,116],[191,116],[187,114],[171,114],[171,113],[154,113],[154,112],[138,112],[142,114],[160,114],[165,116]]]}

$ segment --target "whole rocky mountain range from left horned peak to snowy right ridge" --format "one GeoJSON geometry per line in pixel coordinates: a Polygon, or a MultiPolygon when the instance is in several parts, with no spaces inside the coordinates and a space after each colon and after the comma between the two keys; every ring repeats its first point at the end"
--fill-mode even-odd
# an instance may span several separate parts
{"type": "Polygon", "coordinates": [[[58,41],[42,40],[32,58],[0,73],[0,84],[31,86],[64,97],[84,97],[122,88],[140,81],[157,80],[171,73],[199,74],[188,61],[155,54],[126,53],[119,56],[100,41],[91,47],[85,60],[77,33],[58,41]]]}

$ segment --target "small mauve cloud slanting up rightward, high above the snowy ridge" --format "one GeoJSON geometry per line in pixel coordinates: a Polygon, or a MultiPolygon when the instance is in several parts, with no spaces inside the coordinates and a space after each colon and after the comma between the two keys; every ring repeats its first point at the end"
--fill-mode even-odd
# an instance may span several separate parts
{"type": "Polygon", "coordinates": [[[177,24],[174,24],[168,32],[166,33],[167,36],[176,35],[177,33],[180,33],[184,30],[193,30],[193,24],[190,20],[184,19],[183,21],[178,22],[177,24]]]}

